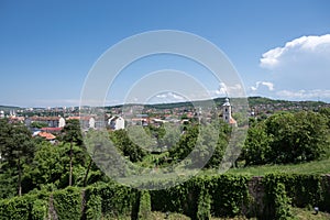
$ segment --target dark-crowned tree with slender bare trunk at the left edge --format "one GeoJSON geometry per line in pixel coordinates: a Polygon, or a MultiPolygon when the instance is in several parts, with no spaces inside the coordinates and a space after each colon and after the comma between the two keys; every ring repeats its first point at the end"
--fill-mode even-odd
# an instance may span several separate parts
{"type": "Polygon", "coordinates": [[[31,163],[35,151],[35,144],[31,132],[21,123],[0,121],[0,151],[1,157],[9,166],[18,169],[18,194],[22,195],[23,164],[31,163]]]}

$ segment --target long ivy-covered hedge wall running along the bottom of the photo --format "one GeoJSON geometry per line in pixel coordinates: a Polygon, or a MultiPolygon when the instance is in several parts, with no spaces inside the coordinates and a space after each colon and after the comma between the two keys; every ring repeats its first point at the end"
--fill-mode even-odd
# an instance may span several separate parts
{"type": "Polygon", "coordinates": [[[216,175],[195,177],[163,190],[101,184],[85,189],[68,187],[54,193],[28,194],[0,200],[0,219],[147,219],[151,211],[178,212],[191,219],[211,216],[288,219],[292,206],[318,206],[321,211],[330,211],[329,205],[330,176],[216,175]],[[256,185],[260,190],[251,188],[256,185]]]}

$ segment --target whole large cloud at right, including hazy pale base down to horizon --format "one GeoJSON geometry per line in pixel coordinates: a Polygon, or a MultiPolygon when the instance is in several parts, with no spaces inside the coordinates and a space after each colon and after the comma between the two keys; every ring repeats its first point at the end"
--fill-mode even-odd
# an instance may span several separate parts
{"type": "Polygon", "coordinates": [[[330,100],[330,34],[301,36],[272,48],[262,54],[260,66],[271,72],[267,81],[273,86],[257,81],[252,91],[267,86],[278,98],[330,100]]]}

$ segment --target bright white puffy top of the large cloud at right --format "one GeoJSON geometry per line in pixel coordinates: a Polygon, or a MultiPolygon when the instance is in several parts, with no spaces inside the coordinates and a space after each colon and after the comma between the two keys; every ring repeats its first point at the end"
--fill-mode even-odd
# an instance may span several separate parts
{"type": "Polygon", "coordinates": [[[270,50],[262,55],[260,65],[274,69],[284,65],[288,61],[299,61],[305,58],[328,58],[330,55],[330,34],[321,36],[301,36],[287,42],[283,47],[270,50]],[[307,57],[306,57],[307,55],[307,57]]]}

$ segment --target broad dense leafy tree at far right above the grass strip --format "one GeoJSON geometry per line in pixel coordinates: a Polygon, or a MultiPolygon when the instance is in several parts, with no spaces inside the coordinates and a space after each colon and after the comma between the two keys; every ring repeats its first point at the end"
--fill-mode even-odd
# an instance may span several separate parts
{"type": "Polygon", "coordinates": [[[270,160],[273,163],[319,160],[327,152],[327,120],[320,113],[278,113],[270,117],[265,124],[272,139],[270,160]]]}

